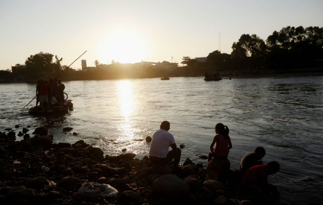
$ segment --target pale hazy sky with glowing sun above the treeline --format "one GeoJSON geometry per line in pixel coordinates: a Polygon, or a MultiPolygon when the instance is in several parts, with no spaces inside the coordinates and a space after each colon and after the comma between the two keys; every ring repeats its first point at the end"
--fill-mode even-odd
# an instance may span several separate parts
{"type": "Polygon", "coordinates": [[[322,0],[0,0],[0,70],[41,51],[80,69],[111,61],[169,61],[231,53],[242,34],[323,27],[322,0]]]}

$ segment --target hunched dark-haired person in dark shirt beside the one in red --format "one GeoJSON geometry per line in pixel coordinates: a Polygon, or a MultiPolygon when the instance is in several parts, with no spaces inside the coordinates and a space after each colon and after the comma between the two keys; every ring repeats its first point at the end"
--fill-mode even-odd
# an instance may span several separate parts
{"type": "Polygon", "coordinates": [[[263,161],[259,161],[266,155],[263,147],[257,147],[254,152],[246,154],[240,162],[239,170],[245,174],[247,170],[256,165],[263,165],[263,161]]]}

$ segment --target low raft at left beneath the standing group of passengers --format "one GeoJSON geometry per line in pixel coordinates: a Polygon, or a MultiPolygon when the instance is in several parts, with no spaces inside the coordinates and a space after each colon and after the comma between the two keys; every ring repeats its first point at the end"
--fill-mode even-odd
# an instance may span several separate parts
{"type": "Polygon", "coordinates": [[[66,100],[62,106],[41,107],[35,106],[28,110],[30,115],[64,115],[73,110],[72,100],[66,100]]]}

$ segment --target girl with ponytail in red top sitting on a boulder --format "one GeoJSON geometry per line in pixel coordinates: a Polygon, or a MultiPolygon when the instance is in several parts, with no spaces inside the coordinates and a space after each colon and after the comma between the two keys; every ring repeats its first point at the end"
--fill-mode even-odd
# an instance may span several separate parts
{"type": "Polygon", "coordinates": [[[222,123],[215,125],[216,135],[210,145],[208,161],[212,160],[212,157],[216,158],[227,158],[229,155],[229,150],[232,148],[231,139],[229,137],[229,128],[222,123]],[[213,146],[215,144],[215,149],[213,146]]]}

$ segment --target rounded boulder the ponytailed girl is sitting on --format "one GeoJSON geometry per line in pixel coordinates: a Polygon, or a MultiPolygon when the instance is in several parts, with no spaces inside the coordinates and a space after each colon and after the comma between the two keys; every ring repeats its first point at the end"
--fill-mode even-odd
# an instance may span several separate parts
{"type": "Polygon", "coordinates": [[[208,163],[206,170],[209,176],[219,178],[221,174],[226,173],[230,170],[230,161],[227,158],[213,158],[208,163]]]}

